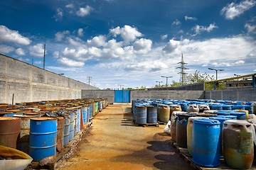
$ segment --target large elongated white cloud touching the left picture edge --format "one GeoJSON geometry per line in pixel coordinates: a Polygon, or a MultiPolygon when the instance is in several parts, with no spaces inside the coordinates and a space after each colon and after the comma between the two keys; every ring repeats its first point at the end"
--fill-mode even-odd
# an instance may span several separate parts
{"type": "Polygon", "coordinates": [[[10,30],[6,26],[0,26],[0,42],[11,42],[17,45],[30,45],[31,40],[26,37],[23,37],[16,30],[10,30]]]}

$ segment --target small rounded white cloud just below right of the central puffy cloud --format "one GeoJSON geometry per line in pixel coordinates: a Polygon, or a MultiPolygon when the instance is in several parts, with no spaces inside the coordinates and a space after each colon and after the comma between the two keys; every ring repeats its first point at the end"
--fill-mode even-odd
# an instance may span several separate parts
{"type": "Polygon", "coordinates": [[[152,41],[141,38],[134,42],[134,50],[138,54],[146,54],[151,50],[152,41]]]}

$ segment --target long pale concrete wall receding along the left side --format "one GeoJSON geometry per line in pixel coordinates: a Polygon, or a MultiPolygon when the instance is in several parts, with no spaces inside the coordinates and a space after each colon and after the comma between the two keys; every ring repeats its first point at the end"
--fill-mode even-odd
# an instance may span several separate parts
{"type": "Polygon", "coordinates": [[[81,98],[81,89],[97,89],[0,54],[0,103],[81,98]]]}

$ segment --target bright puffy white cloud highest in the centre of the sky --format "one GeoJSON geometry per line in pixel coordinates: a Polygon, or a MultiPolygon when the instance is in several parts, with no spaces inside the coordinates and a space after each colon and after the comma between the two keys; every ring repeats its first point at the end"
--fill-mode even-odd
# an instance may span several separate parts
{"type": "Polygon", "coordinates": [[[124,26],[123,28],[118,26],[117,28],[110,29],[110,33],[114,35],[114,37],[121,35],[125,43],[134,42],[137,37],[142,36],[142,33],[140,33],[137,28],[131,26],[124,26]]]}

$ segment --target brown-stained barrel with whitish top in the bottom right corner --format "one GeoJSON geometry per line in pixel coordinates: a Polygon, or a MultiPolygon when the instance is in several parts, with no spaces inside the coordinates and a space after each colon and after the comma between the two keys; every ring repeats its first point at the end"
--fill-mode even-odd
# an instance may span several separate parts
{"type": "Polygon", "coordinates": [[[233,169],[250,169],[254,157],[252,124],[246,120],[223,123],[223,156],[233,169]]]}

